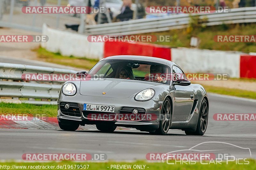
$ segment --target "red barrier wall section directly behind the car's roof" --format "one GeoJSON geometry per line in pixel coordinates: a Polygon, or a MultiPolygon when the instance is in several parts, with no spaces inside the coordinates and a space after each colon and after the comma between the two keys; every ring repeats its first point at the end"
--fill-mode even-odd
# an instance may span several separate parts
{"type": "Polygon", "coordinates": [[[143,55],[171,60],[171,48],[138,42],[105,42],[104,58],[113,55],[143,55]]]}

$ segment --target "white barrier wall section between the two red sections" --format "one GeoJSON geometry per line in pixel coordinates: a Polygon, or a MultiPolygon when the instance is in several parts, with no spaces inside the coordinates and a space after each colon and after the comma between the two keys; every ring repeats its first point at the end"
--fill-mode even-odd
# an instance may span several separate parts
{"type": "Polygon", "coordinates": [[[228,73],[240,77],[240,52],[172,48],[172,62],[187,73],[228,73]]]}

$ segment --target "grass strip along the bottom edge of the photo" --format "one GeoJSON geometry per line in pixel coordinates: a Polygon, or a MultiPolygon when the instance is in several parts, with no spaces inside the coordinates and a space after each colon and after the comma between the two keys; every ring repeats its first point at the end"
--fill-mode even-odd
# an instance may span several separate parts
{"type": "MultiPolygon", "coordinates": [[[[208,162],[209,163],[209,162],[208,162]]],[[[179,170],[186,170],[186,169],[209,169],[209,170],[216,170],[216,169],[223,169],[223,170],[231,170],[231,169],[240,169],[240,170],[247,170],[247,169],[256,169],[256,162],[253,159],[249,160],[249,164],[248,165],[239,165],[236,164],[236,162],[228,162],[228,164],[226,162],[223,162],[222,164],[214,164],[214,163],[210,163],[209,165],[203,165],[200,164],[200,162],[196,162],[196,164],[194,165],[187,165],[187,164],[182,164],[180,165],[180,163],[177,163],[176,165],[168,165],[167,163],[149,163],[146,161],[136,161],[136,162],[100,162],[100,163],[93,163],[93,162],[69,162],[69,161],[62,161],[62,162],[46,162],[46,163],[42,163],[42,162],[6,162],[0,163],[0,166],[8,166],[9,169],[12,168],[12,166],[14,165],[15,169],[45,169],[42,166],[52,166],[50,167],[50,169],[91,169],[91,170],[98,170],[98,169],[124,169],[124,168],[113,168],[113,165],[128,165],[131,166],[131,168],[126,168],[126,169],[136,169],[135,166],[138,165],[142,165],[142,169],[143,165],[145,166],[145,169],[158,169],[158,170],[164,170],[164,169],[179,169],[179,170]],[[82,166],[82,168],[76,168],[79,165],[82,166]],[[88,167],[89,165],[89,167],[88,167]],[[111,166],[112,165],[112,166],[111,166]],[[135,165],[135,166],[134,166],[135,165]],[[28,166],[30,166],[28,168],[28,166]],[[36,167],[37,166],[37,167],[36,167]],[[41,166],[41,167],[40,167],[41,166]],[[85,168],[83,166],[86,166],[85,168]],[[134,166],[134,167],[133,167],[134,166]],[[19,167],[19,168],[18,168],[19,167]],[[111,168],[112,167],[112,168],[111,168]]]]}

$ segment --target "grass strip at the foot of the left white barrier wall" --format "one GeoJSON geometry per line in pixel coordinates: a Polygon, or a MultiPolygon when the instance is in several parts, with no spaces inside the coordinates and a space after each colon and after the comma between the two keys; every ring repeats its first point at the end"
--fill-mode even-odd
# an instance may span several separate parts
{"type": "Polygon", "coordinates": [[[37,53],[40,61],[75,67],[81,70],[90,70],[98,62],[96,59],[86,57],[63,56],[60,53],[52,53],[41,47],[33,51],[37,53]]]}

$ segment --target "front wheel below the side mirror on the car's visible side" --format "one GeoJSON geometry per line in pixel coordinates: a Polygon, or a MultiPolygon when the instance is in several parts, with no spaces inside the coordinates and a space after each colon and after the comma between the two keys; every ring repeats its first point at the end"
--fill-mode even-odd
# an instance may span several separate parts
{"type": "Polygon", "coordinates": [[[171,125],[172,104],[168,98],[164,100],[159,120],[159,128],[149,134],[166,135],[171,125]]]}

